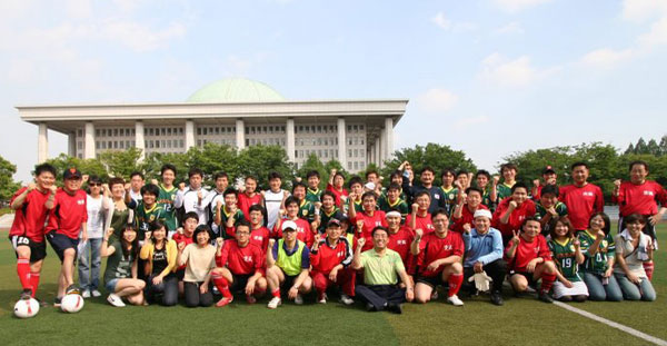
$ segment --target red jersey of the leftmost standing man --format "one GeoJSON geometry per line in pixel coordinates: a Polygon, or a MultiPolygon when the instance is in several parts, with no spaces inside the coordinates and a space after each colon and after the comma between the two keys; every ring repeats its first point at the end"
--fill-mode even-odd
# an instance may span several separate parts
{"type": "MultiPolygon", "coordinates": [[[[10,204],[27,189],[27,187],[19,189],[11,198],[10,204]]],[[[50,194],[49,190],[42,194],[37,189],[28,192],[23,205],[16,210],[14,220],[9,230],[10,237],[26,236],[36,243],[44,241],[44,223],[49,215],[49,209],[44,205],[50,194]]]]}

